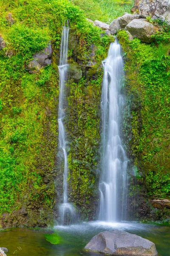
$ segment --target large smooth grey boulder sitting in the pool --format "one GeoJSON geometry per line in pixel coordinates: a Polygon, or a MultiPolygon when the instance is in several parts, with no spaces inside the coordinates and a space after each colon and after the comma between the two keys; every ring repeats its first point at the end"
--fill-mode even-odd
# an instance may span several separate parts
{"type": "Polygon", "coordinates": [[[153,242],[125,231],[104,231],[94,236],[85,250],[120,256],[158,256],[153,242]]]}

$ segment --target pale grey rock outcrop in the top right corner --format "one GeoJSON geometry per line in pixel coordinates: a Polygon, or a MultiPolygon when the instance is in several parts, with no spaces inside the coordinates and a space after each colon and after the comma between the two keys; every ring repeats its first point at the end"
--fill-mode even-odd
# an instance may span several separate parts
{"type": "Polygon", "coordinates": [[[147,17],[167,20],[170,24],[170,0],[135,0],[131,13],[139,12],[140,15],[147,17]]]}

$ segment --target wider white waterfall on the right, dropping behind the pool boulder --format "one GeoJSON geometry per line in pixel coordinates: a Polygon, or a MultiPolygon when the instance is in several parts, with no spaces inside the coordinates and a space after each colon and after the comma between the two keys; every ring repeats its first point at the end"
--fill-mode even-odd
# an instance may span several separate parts
{"type": "Polygon", "coordinates": [[[99,220],[117,222],[126,219],[127,157],[119,137],[124,80],[121,45],[115,39],[108,57],[102,61],[102,144],[99,183],[99,220]]]}

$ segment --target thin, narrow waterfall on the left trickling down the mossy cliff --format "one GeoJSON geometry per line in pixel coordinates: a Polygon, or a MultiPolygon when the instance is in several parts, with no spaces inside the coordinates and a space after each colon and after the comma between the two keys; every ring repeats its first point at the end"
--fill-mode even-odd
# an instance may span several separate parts
{"type": "Polygon", "coordinates": [[[59,60],[59,111],[58,111],[58,129],[59,129],[59,151],[60,163],[64,166],[63,174],[63,203],[59,206],[59,223],[61,225],[71,224],[74,218],[74,207],[68,203],[67,177],[68,177],[68,158],[67,158],[67,141],[65,136],[65,126],[63,119],[65,117],[65,83],[67,81],[67,53],[68,53],[68,34],[69,27],[62,27],[62,39],[60,47],[59,60]]]}

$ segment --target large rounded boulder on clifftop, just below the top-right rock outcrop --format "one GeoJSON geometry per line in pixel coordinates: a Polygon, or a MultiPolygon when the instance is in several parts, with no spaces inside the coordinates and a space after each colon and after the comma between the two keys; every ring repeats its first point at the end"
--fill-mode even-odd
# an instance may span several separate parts
{"type": "Polygon", "coordinates": [[[153,41],[151,35],[156,33],[156,27],[144,19],[130,21],[125,27],[125,30],[129,31],[133,37],[145,43],[151,43],[153,41]]]}

